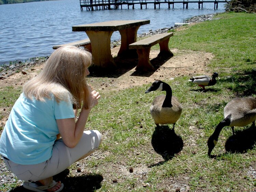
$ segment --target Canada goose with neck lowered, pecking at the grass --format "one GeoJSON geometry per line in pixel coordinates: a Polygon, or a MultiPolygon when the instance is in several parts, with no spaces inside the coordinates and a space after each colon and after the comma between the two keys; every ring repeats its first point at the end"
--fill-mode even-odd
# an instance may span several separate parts
{"type": "Polygon", "coordinates": [[[208,155],[211,156],[211,152],[217,144],[219,133],[225,126],[231,127],[234,134],[234,126],[244,127],[251,122],[253,123],[253,126],[255,126],[255,119],[255,98],[234,98],[228,102],[228,104],[224,107],[224,120],[217,125],[215,131],[208,139],[208,155]]]}

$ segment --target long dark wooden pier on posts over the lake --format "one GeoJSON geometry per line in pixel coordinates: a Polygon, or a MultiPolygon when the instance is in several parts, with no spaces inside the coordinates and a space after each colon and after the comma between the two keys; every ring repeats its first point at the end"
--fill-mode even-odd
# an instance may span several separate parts
{"type": "Polygon", "coordinates": [[[130,6],[134,9],[135,4],[140,4],[140,9],[142,9],[143,5],[147,9],[147,4],[154,4],[154,9],[158,5],[160,9],[160,4],[168,4],[168,9],[170,9],[172,5],[172,9],[174,9],[174,3],[182,3],[183,9],[188,9],[188,3],[198,3],[198,9],[203,8],[203,3],[214,3],[214,9],[218,9],[218,3],[227,3],[226,0],[80,0],[80,8],[83,11],[83,8],[86,8],[86,11],[94,11],[101,9],[123,9],[123,5],[127,5],[128,9],[130,6]]]}

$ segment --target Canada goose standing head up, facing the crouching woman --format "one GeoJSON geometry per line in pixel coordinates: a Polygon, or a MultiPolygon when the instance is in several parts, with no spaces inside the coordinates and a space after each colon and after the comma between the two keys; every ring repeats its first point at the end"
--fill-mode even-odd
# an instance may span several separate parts
{"type": "Polygon", "coordinates": [[[166,95],[159,95],[154,99],[150,107],[150,113],[157,127],[159,124],[173,124],[174,130],[174,125],[181,116],[181,103],[176,97],[172,96],[170,85],[160,80],[153,82],[145,93],[156,90],[166,91],[166,95]]]}

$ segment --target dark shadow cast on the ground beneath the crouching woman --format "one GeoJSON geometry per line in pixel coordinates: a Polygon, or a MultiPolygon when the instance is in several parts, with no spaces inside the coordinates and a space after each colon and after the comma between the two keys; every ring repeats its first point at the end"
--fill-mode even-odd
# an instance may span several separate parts
{"type": "MultiPolygon", "coordinates": [[[[62,192],[84,192],[84,191],[95,191],[101,188],[101,181],[103,176],[99,174],[81,174],[79,176],[68,176],[69,169],[53,176],[55,181],[61,181],[64,184],[62,192]]],[[[16,187],[11,192],[29,192],[22,186],[16,187]]]]}

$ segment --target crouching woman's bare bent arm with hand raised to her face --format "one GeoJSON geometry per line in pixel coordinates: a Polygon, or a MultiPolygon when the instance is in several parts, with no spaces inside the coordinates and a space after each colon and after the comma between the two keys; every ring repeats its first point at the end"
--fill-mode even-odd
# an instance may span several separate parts
{"type": "MultiPolygon", "coordinates": [[[[100,98],[99,92],[95,90],[91,92],[91,106],[89,109],[82,108],[81,113],[75,122],[74,118],[68,119],[57,119],[57,125],[59,128],[60,135],[66,146],[73,148],[80,141],[84,128],[90,113],[90,110],[98,104],[100,98]]],[[[75,113],[75,111],[74,111],[75,113]]],[[[77,113],[77,111],[76,111],[77,113]]]]}

